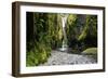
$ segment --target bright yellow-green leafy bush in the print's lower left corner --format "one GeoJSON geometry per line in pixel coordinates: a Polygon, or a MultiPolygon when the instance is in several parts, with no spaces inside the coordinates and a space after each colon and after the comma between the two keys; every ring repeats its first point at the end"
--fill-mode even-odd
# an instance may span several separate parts
{"type": "Polygon", "coordinates": [[[48,61],[51,49],[45,44],[37,43],[36,47],[27,52],[27,66],[37,66],[48,61]]]}

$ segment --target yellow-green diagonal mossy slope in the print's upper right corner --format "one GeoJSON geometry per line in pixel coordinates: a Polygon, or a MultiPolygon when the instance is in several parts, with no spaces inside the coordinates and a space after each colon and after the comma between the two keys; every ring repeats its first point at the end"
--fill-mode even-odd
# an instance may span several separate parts
{"type": "Polygon", "coordinates": [[[87,36],[92,38],[97,38],[97,17],[92,15],[86,15],[86,22],[84,24],[84,29],[79,36],[78,40],[85,40],[87,36]]]}

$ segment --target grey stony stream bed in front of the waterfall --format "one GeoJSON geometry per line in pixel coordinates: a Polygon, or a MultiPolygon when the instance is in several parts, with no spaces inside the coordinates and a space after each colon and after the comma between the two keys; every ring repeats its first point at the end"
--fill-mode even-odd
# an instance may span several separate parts
{"type": "Polygon", "coordinates": [[[52,65],[76,65],[76,64],[95,64],[96,61],[89,55],[70,54],[66,52],[52,51],[51,57],[41,66],[52,65]]]}

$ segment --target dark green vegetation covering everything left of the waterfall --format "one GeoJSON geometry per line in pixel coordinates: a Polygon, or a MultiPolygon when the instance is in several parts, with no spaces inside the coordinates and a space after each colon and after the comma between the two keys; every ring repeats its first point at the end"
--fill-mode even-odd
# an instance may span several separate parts
{"type": "Polygon", "coordinates": [[[51,50],[62,45],[62,23],[57,14],[27,13],[27,66],[48,61],[51,50]]]}

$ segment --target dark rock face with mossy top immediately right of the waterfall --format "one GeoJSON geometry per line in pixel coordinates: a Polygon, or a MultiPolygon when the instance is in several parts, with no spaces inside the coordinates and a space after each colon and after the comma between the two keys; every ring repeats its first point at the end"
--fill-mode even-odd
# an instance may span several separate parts
{"type": "MultiPolygon", "coordinates": [[[[82,34],[86,22],[86,15],[85,14],[78,14],[72,18],[70,16],[67,22],[67,40],[68,40],[68,48],[79,48],[82,47],[82,43],[78,41],[79,36],[82,34]],[[72,24],[71,24],[72,23],[72,24]],[[81,44],[81,45],[80,45],[81,44]]],[[[81,50],[82,51],[82,50],[81,50]]]]}

